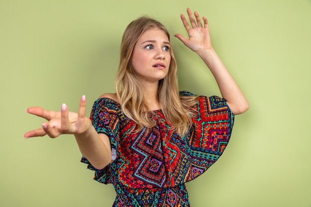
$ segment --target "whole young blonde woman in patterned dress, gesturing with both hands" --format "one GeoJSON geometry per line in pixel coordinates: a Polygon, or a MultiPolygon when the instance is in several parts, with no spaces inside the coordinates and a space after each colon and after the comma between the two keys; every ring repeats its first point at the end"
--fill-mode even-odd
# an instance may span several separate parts
{"type": "Polygon", "coordinates": [[[188,207],[185,182],[205,172],[223,153],[234,115],[248,102],[215,53],[208,21],[187,9],[181,20],[189,38],[176,34],[211,70],[223,98],[178,91],[176,62],[165,27],[149,17],[131,22],[123,35],[116,93],[106,93],[85,117],[85,96],[78,114],[63,104],[60,112],[31,107],[45,118],[25,138],[74,134],[82,162],[94,179],[112,183],[113,207],[188,207]]]}

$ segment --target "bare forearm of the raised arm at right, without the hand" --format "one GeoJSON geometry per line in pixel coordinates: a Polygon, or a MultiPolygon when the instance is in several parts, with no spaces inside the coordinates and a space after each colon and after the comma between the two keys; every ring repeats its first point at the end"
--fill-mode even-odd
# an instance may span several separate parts
{"type": "Polygon", "coordinates": [[[214,75],[221,94],[227,100],[233,114],[245,112],[249,108],[246,97],[214,49],[206,49],[198,54],[214,75]]]}

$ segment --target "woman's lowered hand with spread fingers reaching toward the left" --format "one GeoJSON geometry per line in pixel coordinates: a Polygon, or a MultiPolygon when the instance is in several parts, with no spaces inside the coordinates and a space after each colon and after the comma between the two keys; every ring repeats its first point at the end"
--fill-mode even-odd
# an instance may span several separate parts
{"type": "Polygon", "coordinates": [[[78,113],[68,111],[66,104],[62,105],[61,111],[47,111],[41,107],[30,107],[29,114],[46,119],[42,127],[29,131],[24,138],[42,137],[48,135],[50,138],[57,138],[62,134],[81,134],[91,127],[91,121],[85,117],[86,100],[85,96],[80,99],[78,113]]]}

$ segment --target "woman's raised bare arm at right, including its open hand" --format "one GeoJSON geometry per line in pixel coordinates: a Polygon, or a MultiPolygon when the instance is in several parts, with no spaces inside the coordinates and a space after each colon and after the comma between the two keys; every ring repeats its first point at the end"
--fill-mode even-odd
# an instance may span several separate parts
{"type": "Polygon", "coordinates": [[[221,94],[227,100],[227,104],[233,114],[237,115],[245,112],[249,108],[249,104],[232,75],[212,47],[207,18],[202,18],[204,21],[203,27],[197,12],[194,12],[195,18],[189,8],[187,9],[187,13],[191,27],[183,14],[180,17],[188,32],[189,39],[186,39],[181,34],[175,34],[175,37],[181,40],[188,48],[198,53],[202,58],[214,75],[221,94]]]}

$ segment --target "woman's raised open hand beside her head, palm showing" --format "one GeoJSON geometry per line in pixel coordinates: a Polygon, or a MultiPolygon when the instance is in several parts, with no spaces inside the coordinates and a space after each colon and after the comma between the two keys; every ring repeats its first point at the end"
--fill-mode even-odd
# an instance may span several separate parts
{"type": "Polygon", "coordinates": [[[181,34],[175,34],[174,36],[194,52],[200,53],[207,49],[211,49],[212,44],[207,18],[203,16],[203,26],[198,12],[195,11],[193,16],[190,8],[187,8],[187,14],[189,16],[191,26],[188,24],[188,21],[183,14],[180,15],[180,18],[185,29],[187,30],[189,39],[185,38],[181,34]]]}

